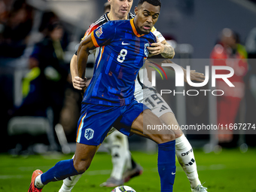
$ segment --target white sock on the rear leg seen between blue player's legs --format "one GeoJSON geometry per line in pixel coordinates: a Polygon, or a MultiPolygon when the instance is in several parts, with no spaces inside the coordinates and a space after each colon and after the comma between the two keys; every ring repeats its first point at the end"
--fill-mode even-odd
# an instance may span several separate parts
{"type": "Polygon", "coordinates": [[[120,180],[123,177],[123,170],[126,166],[127,158],[130,158],[128,150],[128,139],[122,133],[114,131],[108,136],[112,157],[113,169],[111,177],[120,180]]]}

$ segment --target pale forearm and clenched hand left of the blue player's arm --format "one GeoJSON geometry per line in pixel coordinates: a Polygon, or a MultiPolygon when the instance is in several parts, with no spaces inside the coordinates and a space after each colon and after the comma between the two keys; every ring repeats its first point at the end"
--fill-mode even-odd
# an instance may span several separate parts
{"type": "Polygon", "coordinates": [[[79,78],[78,76],[75,76],[76,72],[78,71],[77,64],[78,64],[78,56],[74,54],[70,61],[70,73],[72,76],[72,84],[75,89],[83,90],[84,88],[86,88],[86,80],[85,78],[79,78]]]}

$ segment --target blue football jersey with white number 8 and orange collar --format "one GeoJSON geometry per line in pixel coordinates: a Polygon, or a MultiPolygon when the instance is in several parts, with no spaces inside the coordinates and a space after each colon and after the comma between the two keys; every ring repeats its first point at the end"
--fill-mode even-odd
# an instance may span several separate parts
{"type": "Polygon", "coordinates": [[[116,20],[99,26],[91,33],[96,58],[93,78],[84,93],[83,103],[122,106],[134,100],[135,81],[148,57],[153,33],[139,35],[133,20],[116,20]]]}

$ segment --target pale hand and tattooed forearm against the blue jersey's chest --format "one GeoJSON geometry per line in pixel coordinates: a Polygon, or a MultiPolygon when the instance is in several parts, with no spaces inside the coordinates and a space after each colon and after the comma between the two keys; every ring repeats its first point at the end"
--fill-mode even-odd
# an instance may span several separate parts
{"type": "Polygon", "coordinates": [[[173,47],[168,44],[166,40],[151,44],[151,46],[148,47],[148,50],[150,56],[161,54],[161,56],[166,59],[172,59],[175,55],[173,47]]]}

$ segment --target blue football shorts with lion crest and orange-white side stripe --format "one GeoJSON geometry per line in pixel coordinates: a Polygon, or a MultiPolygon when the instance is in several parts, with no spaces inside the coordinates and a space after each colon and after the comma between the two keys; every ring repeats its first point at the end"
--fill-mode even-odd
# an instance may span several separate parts
{"type": "Polygon", "coordinates": [[[99,145],[112,126],[120,133],[131,136],[133,135],[130,133],[133,120],[145,109],[148,107],[136,100],[130,105],[123,106],[82,104],[76,142],[85,145],[99,145]]]}

